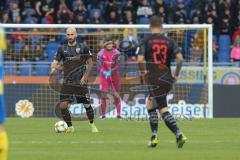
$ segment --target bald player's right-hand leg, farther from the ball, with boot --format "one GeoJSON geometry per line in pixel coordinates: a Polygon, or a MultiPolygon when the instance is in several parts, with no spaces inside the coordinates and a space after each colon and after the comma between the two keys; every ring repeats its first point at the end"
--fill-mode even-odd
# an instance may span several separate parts
{"type": "Polygon", "coordinates": [[[90,99],[87,96],[76,96],[77,103],[82,103],[84,108],[86,109],[86,114],[89,120],[90,127],[92,132],[98,132],[97,127],[94,124],[94,111],[93,107],[91,106],[90,99]]]}

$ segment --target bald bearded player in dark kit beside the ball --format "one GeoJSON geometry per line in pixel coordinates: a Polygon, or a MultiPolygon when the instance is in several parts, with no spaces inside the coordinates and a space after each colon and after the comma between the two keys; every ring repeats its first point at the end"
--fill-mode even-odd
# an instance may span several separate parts
{"type": "MultiPolygon", "coordinates": [[[[51,65],[51,73],[56,73],[58,70],[60,70],[62,68],[62,62],[64,66],[63,71],[65,85],[72,83],[86,85],[88,76],[93,66],[92,53],[88,46],[76,41],[77,31],[75,28],[67,28],[66,36],[68,43],[59,47],[55,59],[51,65]],[[69,70],[74,63],[76,65],[77,62],[78,65],[79,61],[74,61],[76,59],[84,61],[84,63],[87,65],[87,67],[84,68],[84,71],[77,69],[77,67],[80,66],[76,66],[75,68],[69,70]]],[[[67,132],[74,132],[71,115],[68,110],[69,104],[74,101],[74,98],[76,99],[77,103],[82,103],[84,105],[92,132],[98,132],[97,127],[93,123],[94,111],[90,104],[89,94],[83,93],[83,95],[75,95],[74,92],[75,91],[72,91],[73,94],[61,93],[60,95],[60,109],[62,118],[68,125],[67,132]]]]}

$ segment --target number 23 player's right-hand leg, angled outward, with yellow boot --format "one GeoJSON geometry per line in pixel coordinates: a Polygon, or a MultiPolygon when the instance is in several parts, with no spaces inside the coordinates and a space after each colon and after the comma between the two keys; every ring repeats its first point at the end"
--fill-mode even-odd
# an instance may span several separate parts
{"type": "Polygon", "coordinates": [[[186,142],[186,136],[180,131],[175,118],[169,112],[167,108],[167,97],[161,96],[155,99],[156,103],[160,106],[160,114],[164,120],[166,126],[169,130],[176,136],[177,147],[182,148],[183,144],[186,142]]]}

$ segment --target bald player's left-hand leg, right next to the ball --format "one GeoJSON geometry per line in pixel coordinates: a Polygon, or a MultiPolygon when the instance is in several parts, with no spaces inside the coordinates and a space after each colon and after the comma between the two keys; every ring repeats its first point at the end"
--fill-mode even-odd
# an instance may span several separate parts
{"type": "Polygon", "coordinates": [[[72,119],[71,119],[71,114],[70,111],[68,110],[69,104],[73,101],[73,96],[71,95],[60,95],[60,110],[62,114],[62,119],[67,123],[69,131],[68,132],[73,132],[74,128],[72,125],[72,119]]]}

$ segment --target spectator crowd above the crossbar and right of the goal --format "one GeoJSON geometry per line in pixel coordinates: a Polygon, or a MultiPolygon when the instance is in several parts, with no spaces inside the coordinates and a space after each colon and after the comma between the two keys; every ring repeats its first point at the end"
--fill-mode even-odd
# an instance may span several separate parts
{"type": "Polygon", "coordinates": [[[212,24],[214,60],[240,60],[240,0],[1,0],[0,15],[0,23],[148,24],[158,15],[165,24],[212,24]]]}

